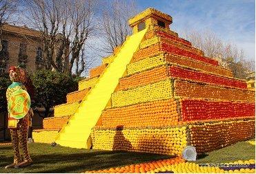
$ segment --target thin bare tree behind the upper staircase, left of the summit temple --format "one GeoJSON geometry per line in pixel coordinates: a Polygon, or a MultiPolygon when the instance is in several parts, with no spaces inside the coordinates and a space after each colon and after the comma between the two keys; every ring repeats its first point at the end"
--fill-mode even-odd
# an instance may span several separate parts
{"type": "Polygon", "coordinates": [[[102,5],[99,20],[101,51],[110,54],[132,34],[128,19],[137,13],[134,1],[112,0],[102,5]]]}

